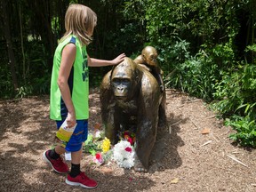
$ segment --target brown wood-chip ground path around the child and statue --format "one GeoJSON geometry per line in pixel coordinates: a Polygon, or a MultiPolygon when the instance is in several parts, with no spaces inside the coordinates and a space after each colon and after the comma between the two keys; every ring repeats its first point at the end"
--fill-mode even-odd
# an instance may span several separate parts
{"type": "MultiPolygon", "coordinates": [[[[90,103],[93,126],[100,123],[97,90],[91,92],[90,103]]],[[[2,100],[0,108],[0,191],[86,190],[65,184],[66,176],[52,172],[42,160],[55,132],[47,96],[2,100]]],[[[166,111],[172,132],[158,129],[148,173],[116,164],[95,166],[84,155],[82,169],[99,181],[93,191],[256,191],[255,150],[232,145],[231,129],[202,100],[168,90],[166,111]]]]}

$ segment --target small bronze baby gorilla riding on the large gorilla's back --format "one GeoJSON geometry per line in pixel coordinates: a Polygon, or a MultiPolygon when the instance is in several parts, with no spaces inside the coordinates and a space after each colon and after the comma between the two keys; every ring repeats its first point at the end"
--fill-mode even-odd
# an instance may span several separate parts
{"type": "Polygon", "coordinates": [[[144,65],[148,70],[155,76],[158,84],[160,85],[160,89],[164,92],[164,81],[163,81],[163,70],[159,67],[157,62],[157,51],[152,46],[146,46],[141,54],[133,60],[135,63],[139,65],[144,65]]]}

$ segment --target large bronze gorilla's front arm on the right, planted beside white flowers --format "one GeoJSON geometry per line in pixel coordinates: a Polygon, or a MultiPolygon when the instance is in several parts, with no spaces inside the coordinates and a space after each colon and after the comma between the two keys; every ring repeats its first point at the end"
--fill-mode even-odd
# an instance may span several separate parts
{"type": "Polygon", "coordinates": [[[148,172],[148,160],[156,141],[159,106],[163,98],[156,78],[147,70],[141,79],[140,103],[138,103],[138,121],[136,132],[135,171],[148,172]]]}

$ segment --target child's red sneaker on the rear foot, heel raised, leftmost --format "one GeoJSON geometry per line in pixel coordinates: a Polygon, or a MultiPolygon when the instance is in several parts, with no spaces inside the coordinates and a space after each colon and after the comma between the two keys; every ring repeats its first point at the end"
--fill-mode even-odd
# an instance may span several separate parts
{"type": "Polygon", "coordinates": [[[44,151],[44,154],[43,154],[44,161],[47,162],[48,164],[50,164],[52,166],[52,169],[55,172],[67,173],[68,172],[68,164],[64,163],[61,157],[59,157],[56,160],[52,159],[49,156],[49,152],[50,152],[50,150],[44,151]]]}

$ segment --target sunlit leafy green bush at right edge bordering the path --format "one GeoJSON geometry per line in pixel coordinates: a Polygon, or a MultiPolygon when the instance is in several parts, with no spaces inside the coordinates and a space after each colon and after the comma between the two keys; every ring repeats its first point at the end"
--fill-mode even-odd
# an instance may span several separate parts
{"type": "MultiPolygon", "coordinates": [[[[249,47],[250,48],[250,47],[249,47]]],[[[241,146],[256,147],[256,65],[244,64],[222,74],[212,108],[236,131],[229,138],[241,146]]]]}

